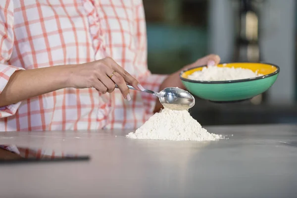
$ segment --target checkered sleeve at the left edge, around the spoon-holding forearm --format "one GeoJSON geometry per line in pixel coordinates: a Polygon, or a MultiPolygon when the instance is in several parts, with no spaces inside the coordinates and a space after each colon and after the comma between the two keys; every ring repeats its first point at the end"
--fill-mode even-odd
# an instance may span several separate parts
{"type": "MultiPolygon", "coordinates": [[[[10,76],[17,70],[23,69],[8,65],[14,41],[13,33],[13,2],[12,0],[0,1],[0,94],[8,83],[10,76]]],[[[0,118],[15,114],[21,102],[1,106],[0,118]]]]}

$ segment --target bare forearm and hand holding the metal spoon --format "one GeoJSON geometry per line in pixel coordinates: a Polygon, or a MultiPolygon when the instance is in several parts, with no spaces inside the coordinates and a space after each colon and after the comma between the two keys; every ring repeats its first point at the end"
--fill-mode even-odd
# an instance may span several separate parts
{"type": "Polygon", "coordinates": [[[125,99],[130,100],[127,84],[139,90],[138,81],[106,57],[79,65],[57,65],[14,72],[0,93],[0,107],[64,88],[96,88],[100,93],[112,92],[115,84],[125,99]]]}

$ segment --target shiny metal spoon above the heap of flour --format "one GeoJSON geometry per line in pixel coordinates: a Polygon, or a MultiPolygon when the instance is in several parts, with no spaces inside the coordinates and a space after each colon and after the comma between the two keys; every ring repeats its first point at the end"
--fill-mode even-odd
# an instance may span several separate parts
{"type": "MultiPolygon", "coordinates": [[[[131,85],[127,86],[131,90],[136,90],[131,85]]],[[[115,88],[118,88],[118,86],[115,85],[115,88]]],[[[195,104],[195,98],[192,94],[180,88],[167,87],[160,92],[153,92],[145,89],[142,92],[157,96],[164,107],[172,110],[186,110],[193,107],[195,104]]]]}

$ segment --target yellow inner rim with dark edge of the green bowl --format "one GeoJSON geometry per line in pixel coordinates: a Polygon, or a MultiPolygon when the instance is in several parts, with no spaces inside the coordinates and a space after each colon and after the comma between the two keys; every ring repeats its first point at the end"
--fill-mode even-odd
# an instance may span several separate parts
{"type": "MultiPolygon", "coordinates": [[[[234,62],[226,62],[226,63],[220,63],[220,64],[232,64],[232,63],[234,63],[234,62]]],[[[236,62],[236,63],[261,63],[261,64],[267,64],[267,65],[271,65],[271,66],[276,67],[276,71],[273,72],[273,73],[266,74],[266,75],[259,76],[259,77],[255,77],[255,78],[246,78],[246,79],[230,80],[230,81],[197,81],[197,80],[191,80],[191,79],[187,79],[187,78],[182,77],[183,73],[185,73],[186,71],[190,71],[192,69],[207,66],[207,65],[202,65],[202,66],[193,67],[193,68],[181,71],[180,79],[183,80],[183,81],[191,82],[191,83],[201,83],[201,84],[241,83],[241,82],[248,82],[248,81],[254,81],[254,80],[259,80],[259,79],[263,79],[263,78],[268,78],[268,77],[274,76],[274,75],[276,75],[276,74],[278,74],[280,72],[280,67],[275,65],[275,64],[271,64],[271,63],[266,63],[266,62],[236,62]]]]}

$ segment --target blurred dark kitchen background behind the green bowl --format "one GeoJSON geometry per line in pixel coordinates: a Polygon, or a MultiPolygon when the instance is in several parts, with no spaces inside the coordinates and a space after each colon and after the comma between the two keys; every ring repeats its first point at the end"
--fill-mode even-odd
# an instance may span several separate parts
{"type": "Polygon", "coordinates": [[[275,84],[240,103],[196,99],[202,125],[297,123],[296,0],[143,0],[148,67],[171,73],[209,53],[280,66],[275,84]]]}

